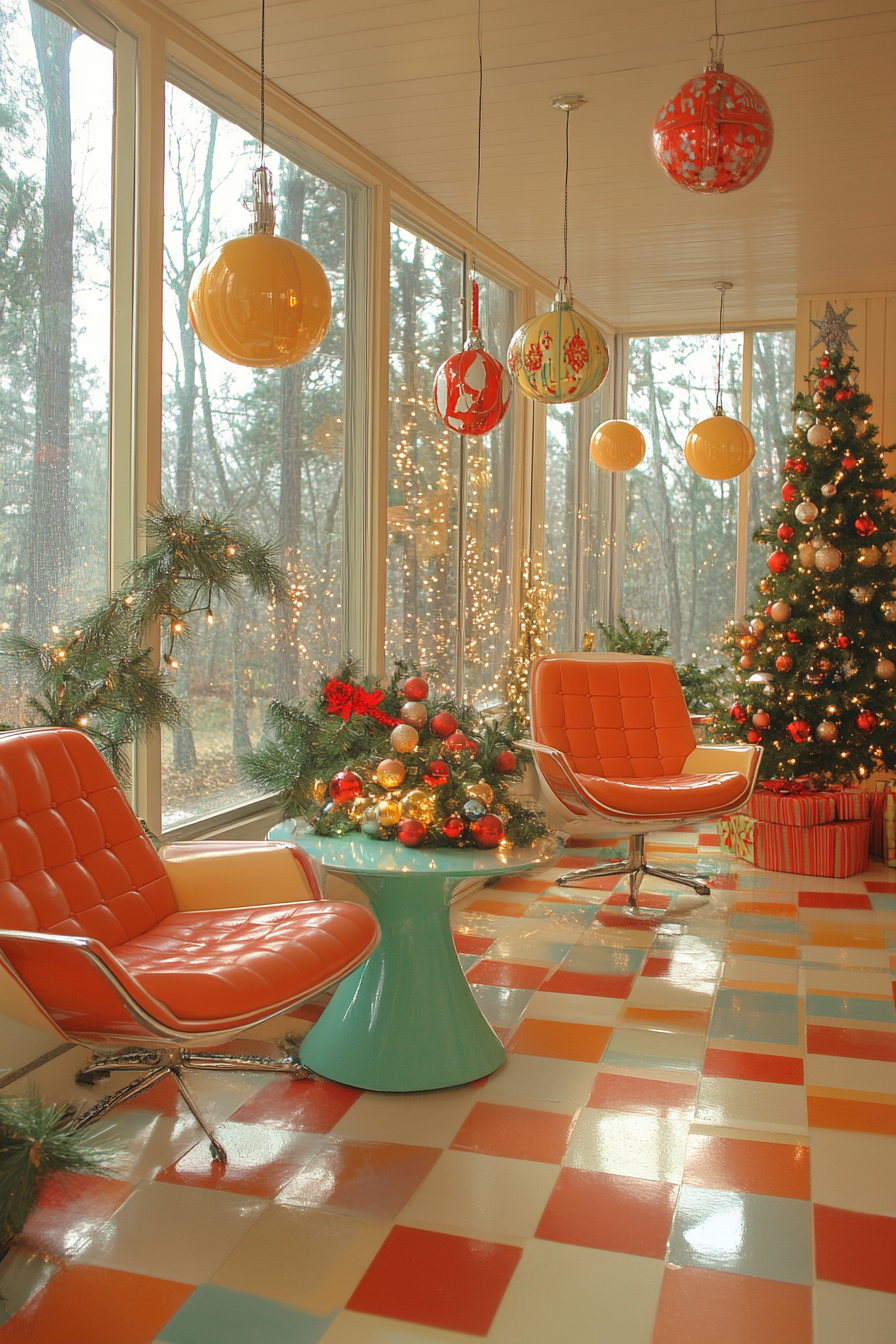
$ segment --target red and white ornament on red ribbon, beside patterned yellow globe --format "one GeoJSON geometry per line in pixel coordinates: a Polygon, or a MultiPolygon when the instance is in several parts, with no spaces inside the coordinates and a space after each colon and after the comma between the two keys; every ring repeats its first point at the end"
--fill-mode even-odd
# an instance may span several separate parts
{"type": "Polygon", "coordinates": [[[459,355],[449,355],[435,375],[435,414],[455,434],[488,434],[510,405],[510,375],[489,355],[480,331],[480,286],[472,285],[470,335],[459,355]]]}

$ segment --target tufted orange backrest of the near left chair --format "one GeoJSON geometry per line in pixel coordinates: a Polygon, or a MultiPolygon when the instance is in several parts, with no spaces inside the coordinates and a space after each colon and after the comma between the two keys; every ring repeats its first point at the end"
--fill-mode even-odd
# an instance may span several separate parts
{"type": "Polygon", "coordinates": [[[175,910],[159,855],[75,728],[0,734],[0,929],[116,948],[175,910]]]}

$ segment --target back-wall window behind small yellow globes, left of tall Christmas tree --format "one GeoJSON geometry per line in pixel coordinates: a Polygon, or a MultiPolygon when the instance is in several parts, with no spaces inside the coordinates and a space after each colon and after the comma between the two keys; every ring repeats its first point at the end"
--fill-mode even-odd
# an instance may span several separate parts
{"type": "Polygon", "coordinates": [[[674,657],[712,657],[747,581],[762,571],[747,534],[779,487],[793,348],[790,331],[724,335],[721,405],[752,425],[758,452],[743,477],[708,481],[685,462],[684,441],[715,406],[716,337],[629,340],[627,418],[643,431],[647,450],[627,476],[622,609],[643,626],[664,626],[674,657]]]}

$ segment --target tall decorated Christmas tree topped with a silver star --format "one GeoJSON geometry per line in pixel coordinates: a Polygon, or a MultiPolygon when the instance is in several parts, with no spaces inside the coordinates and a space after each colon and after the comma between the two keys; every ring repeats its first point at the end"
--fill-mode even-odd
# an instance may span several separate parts
{"type": "Polygon", "coordinates": [[[814,323],[823,352],[794,402],[782,503],[754,534],[770,573],[724,640],[739,691],[720,735],[760,742],[764,778],[846,784],[896,767],[896,482],[849,353],[849,312],[827,304],[814,323]]]}

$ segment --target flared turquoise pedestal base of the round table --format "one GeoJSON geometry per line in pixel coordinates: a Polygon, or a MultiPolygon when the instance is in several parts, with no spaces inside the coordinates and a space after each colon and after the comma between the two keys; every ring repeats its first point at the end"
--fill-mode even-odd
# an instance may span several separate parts
{"type": "Polygon", "coordinates": [[[383,937],[336,989],[301,1060],[369,1091],[457,1087],[494,1073],[504,1046],[457,960],[449,902],[462,876],[356,874],[383,937]]]}

